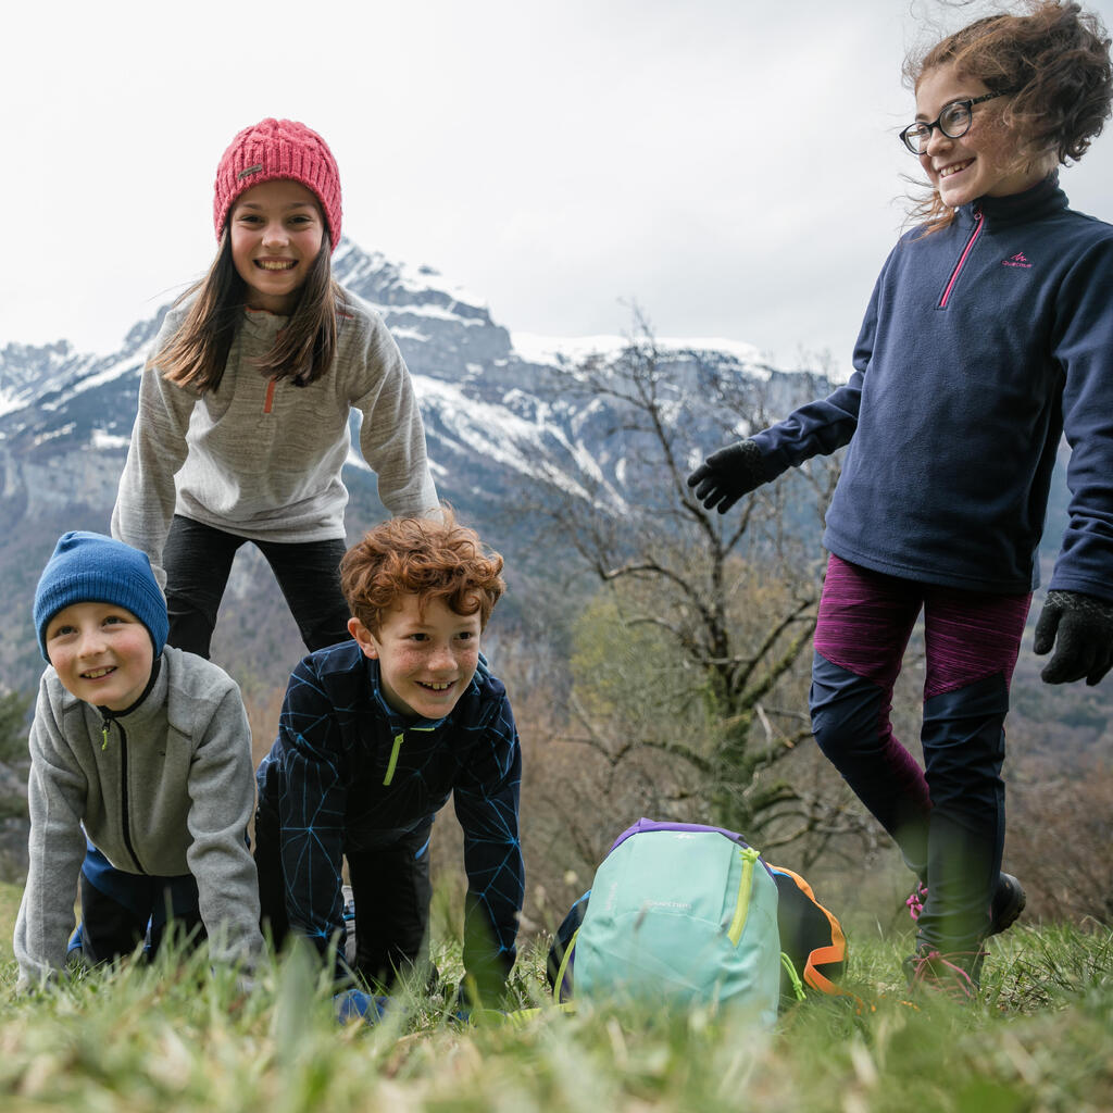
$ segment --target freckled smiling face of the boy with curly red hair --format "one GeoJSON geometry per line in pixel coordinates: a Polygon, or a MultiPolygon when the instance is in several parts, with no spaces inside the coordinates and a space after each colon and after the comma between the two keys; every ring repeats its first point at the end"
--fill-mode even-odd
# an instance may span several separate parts
{"type": "Polygon", "coordinates": [[[390,707],[404,716],[442,719],[475,674],[480,659],[480,615],[457,614],[433,599],[424,613],[417,595],[403,595],[376,633],[358,619],[348,622],[364,654],[378,661],[380,682],[390,707]]]}

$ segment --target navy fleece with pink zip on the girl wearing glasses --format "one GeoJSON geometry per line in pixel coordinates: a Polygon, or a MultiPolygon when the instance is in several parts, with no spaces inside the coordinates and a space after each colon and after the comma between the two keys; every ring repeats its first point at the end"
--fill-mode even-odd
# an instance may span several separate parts
{"type": "Polygon", "coordinates": [[[781,471],[849,443],[831,552],[1030,591],[1065,430],[1070,524],[1050,587],[1113,601],[1113,226],[1070,209],[1052,176],[913,229],[877,279],[854,365],[754,437],[781,471]]]}

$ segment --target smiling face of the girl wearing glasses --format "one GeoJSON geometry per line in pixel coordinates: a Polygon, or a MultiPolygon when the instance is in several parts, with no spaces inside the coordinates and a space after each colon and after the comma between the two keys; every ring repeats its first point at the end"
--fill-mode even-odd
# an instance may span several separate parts
{"type": "MultiPolygon", "coordinates": [[[[962,75],[954,63],[937,66],[927,70],[916,87],[916,119],[935,120],[952,101],[988,91],[982,81],[962,75]]],[[[978,197],[1018,194],[1054,169],[1053,156],[1035,162],[1018,160],[1018,138],[1002,122],[1006,101],[1001,97],[975,105],[969,131],[957,139],[945,136],[939,128],[933,130],[919,162],[944,205],[957,208],[978,197]]]]}

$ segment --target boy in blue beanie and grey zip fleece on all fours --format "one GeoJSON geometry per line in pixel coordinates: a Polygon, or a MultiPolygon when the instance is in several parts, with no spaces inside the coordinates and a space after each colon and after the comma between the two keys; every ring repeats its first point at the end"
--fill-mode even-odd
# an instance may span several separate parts
{"type": "Polygon", "coordinates": [[[49,662],[29,739],[30,865],[16,922],[21,987],[66,962],[80,876],[86,959],[130,954],[168,922],[214,958],[260,953],[245,831],[250,732],[236,683],[166,646],[166,601],[144,553],[63,534],[35,595],[49,662]]]}

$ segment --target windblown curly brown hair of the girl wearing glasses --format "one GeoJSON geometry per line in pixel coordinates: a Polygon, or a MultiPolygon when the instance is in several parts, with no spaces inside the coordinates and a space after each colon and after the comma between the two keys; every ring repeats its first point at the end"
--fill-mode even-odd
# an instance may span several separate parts
{"type": "MultiPolygon", "coordinates": [[[[924,75],[953,65],[991,92],[1008,93],[1003,125],[1017,137],[1018,162],[1054,152],[1077,160],[1110,118],[1113,77],[1110,38],[1097,16],[1076,3],[1030,0],[1028,14],[988,16],[905,59],[905,82],[915,90],[924,75]]],[[[954,210],[937,189],[910,214],[928,232],[946,227],[954,210]]]]}

